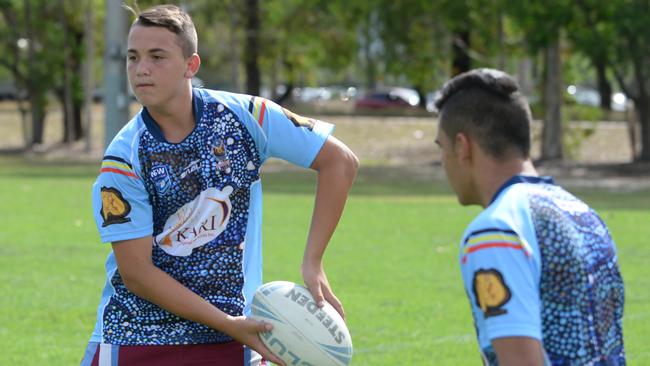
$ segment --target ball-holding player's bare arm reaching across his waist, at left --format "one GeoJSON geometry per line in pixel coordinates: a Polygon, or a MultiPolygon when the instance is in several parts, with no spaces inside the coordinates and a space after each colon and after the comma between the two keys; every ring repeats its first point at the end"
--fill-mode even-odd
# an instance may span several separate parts
{"type": "Polygon", "coordinates": [[[230,316],[183,286],[153,264],[151,243],[151,236],[113,243],[115,260],[129,291],[181,318],[224,332],[267,360],[283,365],[258,337],[259,332],[271,329],[270,324],[230,316]]]}

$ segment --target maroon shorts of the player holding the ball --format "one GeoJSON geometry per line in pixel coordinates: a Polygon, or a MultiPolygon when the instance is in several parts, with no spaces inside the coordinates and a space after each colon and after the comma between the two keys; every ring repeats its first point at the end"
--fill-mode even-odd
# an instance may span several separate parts
{"type": "Polygon", "coordinates": [[[90,342],[81,366],[250,366],[266,365],[237,342],[180,346],[115,346],[90,342]]]}

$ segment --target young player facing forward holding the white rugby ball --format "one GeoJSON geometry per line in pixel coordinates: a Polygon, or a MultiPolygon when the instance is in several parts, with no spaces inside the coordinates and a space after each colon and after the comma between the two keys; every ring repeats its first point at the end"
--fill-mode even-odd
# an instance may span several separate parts
{"type": "Polygon", "coordinates": [[[108,147],[93,186],[113,250],[82,365],[260,364],[251,349],[283,364],[258,336],[271,326],[245,316],[262,283],[259,170],[269,157],[318,171],[302,275],[317,302],[343,314],[322,256],[356,157],[330,124],[263,98],[192,88],[199,65],[188,14],[171,5],[138,14],[127,68],[143,109],[108,147]]]}

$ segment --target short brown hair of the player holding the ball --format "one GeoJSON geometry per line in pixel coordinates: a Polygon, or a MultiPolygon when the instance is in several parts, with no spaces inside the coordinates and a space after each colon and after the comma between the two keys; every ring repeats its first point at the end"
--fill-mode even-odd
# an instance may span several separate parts
{"type": "Polygon", "coordinates": [[[142,12],[125,6],[137,18],[131,25],[143,27],[162,27],[176,34],[177,43],[183,50],[183,56],[190,57],[198,50],[198,36],[192,18],[176,5],[157,5],[142,12]]]}

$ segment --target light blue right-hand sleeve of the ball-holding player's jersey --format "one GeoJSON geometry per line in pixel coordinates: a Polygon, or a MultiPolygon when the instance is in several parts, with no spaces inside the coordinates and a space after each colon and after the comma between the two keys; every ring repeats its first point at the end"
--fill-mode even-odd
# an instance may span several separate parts
{"type": "Polygon", "coordinates": [[[248,112],[263,131],[262,161],[269,157],[309,167],[334,130],[332,124],[303,117],[261,97],[250,97],[248,112]]]}

